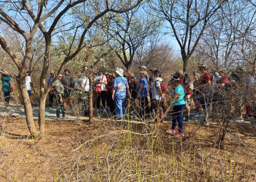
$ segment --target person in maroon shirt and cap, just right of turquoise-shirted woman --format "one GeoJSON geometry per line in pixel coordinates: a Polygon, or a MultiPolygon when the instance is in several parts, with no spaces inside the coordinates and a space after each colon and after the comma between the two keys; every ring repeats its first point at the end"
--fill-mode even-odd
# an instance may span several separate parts
{"type": "MultiPolygon", "coordinates": [[[[200,76],[200,88],[199,91],[201,93],[201,106],[205,113],[204,123],[208,124],[208,91],[211,86],[211,76],[206,71],[207,65],[201,64],[198,65],[199,71],[202,73],[200,76]]],[[[200,114],[195,115],[195,117],[200,117],[200,114]]]]}

